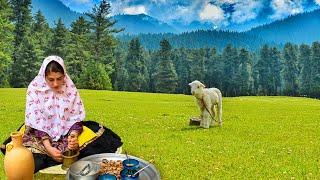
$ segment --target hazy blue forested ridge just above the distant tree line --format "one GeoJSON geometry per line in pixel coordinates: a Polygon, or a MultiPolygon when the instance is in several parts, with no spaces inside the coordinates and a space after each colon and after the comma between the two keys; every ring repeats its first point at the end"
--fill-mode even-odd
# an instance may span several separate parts
{"type": "Polygon", "coordinates": [[[157,50],[160,48],[160,41],[167,39],[172,48],[188,48],[199,49],[201,47],[215,47],[219,52],[228,44],[235,47],[247,48],[250,51],[259,49],[263,44],[277,45],[263,38],[244,32],[232,32],[223,30],[196,30],[192,32],[184,32],[181,34],[173,33],[159,33],[159,34],[138,34],[117,35],[120,41],[130,42],[131,39],[138,38],[143,47],[150,50],[157,50]],[[201,39],[201,41],[199,41],[201,39]]]}

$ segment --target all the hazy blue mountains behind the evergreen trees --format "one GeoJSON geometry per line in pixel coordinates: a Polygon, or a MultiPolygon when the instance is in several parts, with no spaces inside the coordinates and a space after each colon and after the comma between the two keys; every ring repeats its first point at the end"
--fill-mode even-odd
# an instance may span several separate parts
{"type": "MultiPolygon", "coordinates": [[[[57,21],[59,17],[61,17],[67,27],[70,27],[73,21],[83,15],[72,11],[59,0],[33,0],[32,6],[33,13],[39,9],[43,12],[51,27],[54,27],[54,21],[57,21]]],[[[234,31],[220,31],[223,33],[215,33],[210,23],[201,23],[199,21],[193,21],[189,24],[184,24],[179,21],[165,23],[145,14],[116,15],[113,18],[117,21],[115,28],[125,28],[125,30],[120,33],[120,35],[123,35],[120,39],[127,40],[140,34],[138,37],[143,39],[142,44],[144,44],[146,48],[149,47],[151,49],[156,48],[158,46],[158,39],[163,37],[173,41],[174,47],[197,48],[211,47],[217,44],[219,44],[218,47],[220,47],[226,43],[234,43],[236,46],[257,49],[261,43],[272,42],[272,44],[283,44],[285,42],[293,42],[297,44],[310,44],[320,40],[319,9],[291,16],[267,25],[258,26],[244,33],[234,31]],[[199,29],[202,31],[199,31],[199,29]],[[234,38],[232,38],[233,36],[234,38]],[[150,40],[147,40],[148,38],[150,38],[150,40]],[[190,38],[192,41],[197,42],[190,42],[190,38]],[[252,42],[250,42],[250,40],[252,42]],[[149,44],[146,44],[147,42],[149,44]]],[[[239,28],[241,27],[239,26],[239,28]]]]}

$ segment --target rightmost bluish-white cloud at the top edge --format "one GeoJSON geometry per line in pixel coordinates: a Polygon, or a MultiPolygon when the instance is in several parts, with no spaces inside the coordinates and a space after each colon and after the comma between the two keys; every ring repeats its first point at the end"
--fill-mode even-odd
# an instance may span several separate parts
{"type": "Polygon", "coordinates": [[[271,19],[281,19],[288,15],[303,12],[300,0],[272,0],[271,7],[274,10],[274,14],[269,16],[271,19]]]}

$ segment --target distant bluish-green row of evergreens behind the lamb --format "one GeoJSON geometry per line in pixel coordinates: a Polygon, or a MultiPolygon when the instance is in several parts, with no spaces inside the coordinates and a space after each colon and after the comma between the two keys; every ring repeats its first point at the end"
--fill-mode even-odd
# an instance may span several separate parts
{"type": "MultiPolygon", "coordinates": [[[[118,49],[119,50],[119,49],[118,49]]],[[[114,88],[189,94],[188,83],[200,80],[221,89],[224,96],[286,95],[320,97],[320,43],[286,43],[282,50],[264,45],[258,52],[227,45],[172,49],[162,40],[160,50],[144,51],[139,39],[117,59],[114,88]]]]}

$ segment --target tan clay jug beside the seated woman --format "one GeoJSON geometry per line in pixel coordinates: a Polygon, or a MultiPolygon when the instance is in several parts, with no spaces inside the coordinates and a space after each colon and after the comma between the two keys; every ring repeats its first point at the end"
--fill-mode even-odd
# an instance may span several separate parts
{"type": "Polygon", "coordinates": [[[11,133],[12,144],[7,144],[4,168],[8,180],[32,180],[34,172],[33,155],[22,145],[22,133],[11,133]]]}

